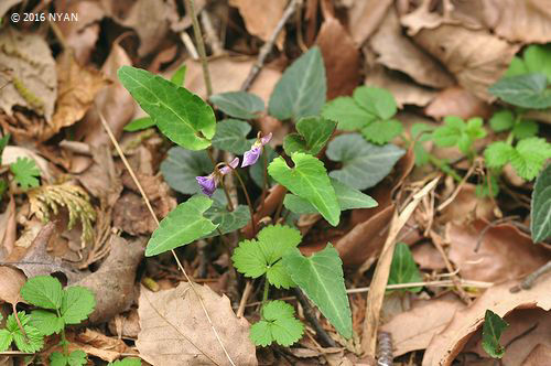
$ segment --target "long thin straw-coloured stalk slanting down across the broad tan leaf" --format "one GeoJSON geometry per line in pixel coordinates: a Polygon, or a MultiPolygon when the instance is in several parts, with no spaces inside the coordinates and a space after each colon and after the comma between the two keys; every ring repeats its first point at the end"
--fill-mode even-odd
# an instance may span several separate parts
{"type": "MultiPolygon", "coordinates": [[[[143,201],[145,202],[145,206],[148,207],[148,209],[149,209],[151,216],[153,217],[153,219],[155,220],[155,224],[159,226],[159,218],[156,217],[156,214],[153,211],[153,207],[151,206],[151,202],[149,201],[148,196],[145,195],[145,191],[143,191],[143,187],[142,187],[140,181],[138,180],[138,177],[136,176],[136,173],[134,173],[132,166],[130,166],[127,158],[125,157],[125,153],[122,152],[122,149],[120,148],[119,142],[117,141],[117,138],[112,133],[111,128],[107,123],[107,121],[106,121],[104,115],[101,114],[101,111],[99,110],[99,108],[96,107],[96,111],[97,111],[97,114],[99,116],[99,120],[101,121],[101,125],[104,126],[107,134],[111,139],[111,142],[115,146],[115,149],[119,153],[119,157],[122,160],[122,163],[127,168],[128,173],[130,174],[130,176],[132,177],[132,181],[134,182],[136,186],[138,187],[138,191],[140,191],[140,194],[142,196],[143,201]]],[[[193,280],[190,278],[190,276],[187,276],[187,272],[185,271],[184,267],[180,262],[180,259],[177,258],[176,252],[174,251],[174,249],[172,249],[171,252],[172,252],[172,256],[174,257],[174,260],[177,263],[177,267],[180,268],[180,270],[184,274],[186,281],[190,283],[190,287],[192,288],[193,292],[195,293],[195,295],[199,300],[201,308],[203,309],[203,312],[205,313],[205,316],[206,316],[208,323],[210,324],[210,329],[213,330],[213,333],[216,336],[216,340],[217,340],[218,344],[220,345],[222,349],[224,351],[224,354],[228,358],[229,363],[233,366],[235,366],[234,360],[231,359],[231,357],[229,356],[228,352],[226,351],[226,347],[224,346],[224,343],[222,342],[220,336],[218,335],[218,332],[216,331],[216,327],[214,326],[213,321],[210,320],[210,315],[208,314],[208,311],[206,310],[206,306],[205,306],[205,303],[203,301],[203,298],[201,298],[199,293],[197,292],[197,289],[195,289],[195,286],[193,284],[193,280]]]]}

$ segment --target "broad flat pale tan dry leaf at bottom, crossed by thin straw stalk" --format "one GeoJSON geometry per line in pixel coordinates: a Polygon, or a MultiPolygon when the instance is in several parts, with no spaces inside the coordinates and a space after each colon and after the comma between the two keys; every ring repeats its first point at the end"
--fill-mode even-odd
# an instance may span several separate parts
{"type": "MultiPolygon", "coordinates": [[[[214,326],[236,365],[257,365],[256,348],[249,340],[249,323],[237,319],[229,299],[207,286],[195,284],[214,326]]],[[[141,289],[141,331],[136,345],[150,364],[229,365],[208,323],[199,300],[187,282],[159,292],[141,289]],[[163,342],[159,342],[163,340],[163,342]]]]}

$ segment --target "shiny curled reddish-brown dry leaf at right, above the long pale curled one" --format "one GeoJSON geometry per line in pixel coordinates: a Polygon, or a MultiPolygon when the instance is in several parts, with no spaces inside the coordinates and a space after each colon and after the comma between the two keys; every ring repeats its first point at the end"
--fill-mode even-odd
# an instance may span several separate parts
{"type": "Polygon", "coordinates": [[[510,224],[489,228],[474,251],[484,220],[454,224],[446,227],[450,240],[450,260],[460,269],[461,277],[476,281],[503,281],[531,273],[551,260],[551,252],[520,235],[510,224]]]}

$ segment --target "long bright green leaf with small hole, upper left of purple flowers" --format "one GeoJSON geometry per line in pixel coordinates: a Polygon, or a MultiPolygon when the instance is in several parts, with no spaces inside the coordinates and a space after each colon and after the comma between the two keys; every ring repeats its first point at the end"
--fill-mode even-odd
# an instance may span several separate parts
{"type": "Polygon", "coordinates": [[[210,146],[216,119],[213,108],[198,96],[144,69],[122,66],[117,75],[169,139],[190,150],[210,146]]]}

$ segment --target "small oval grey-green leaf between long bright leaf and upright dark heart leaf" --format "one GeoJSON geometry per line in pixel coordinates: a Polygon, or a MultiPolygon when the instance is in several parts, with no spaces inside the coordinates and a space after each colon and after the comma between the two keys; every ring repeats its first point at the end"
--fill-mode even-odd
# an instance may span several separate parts
{"type": "Polygon", "coordinates": [[[253,119],[264,110],[264,101],[257,95],[247,92],[228,92],[210,96],[210,101],[226,115],[253,119]]]}

